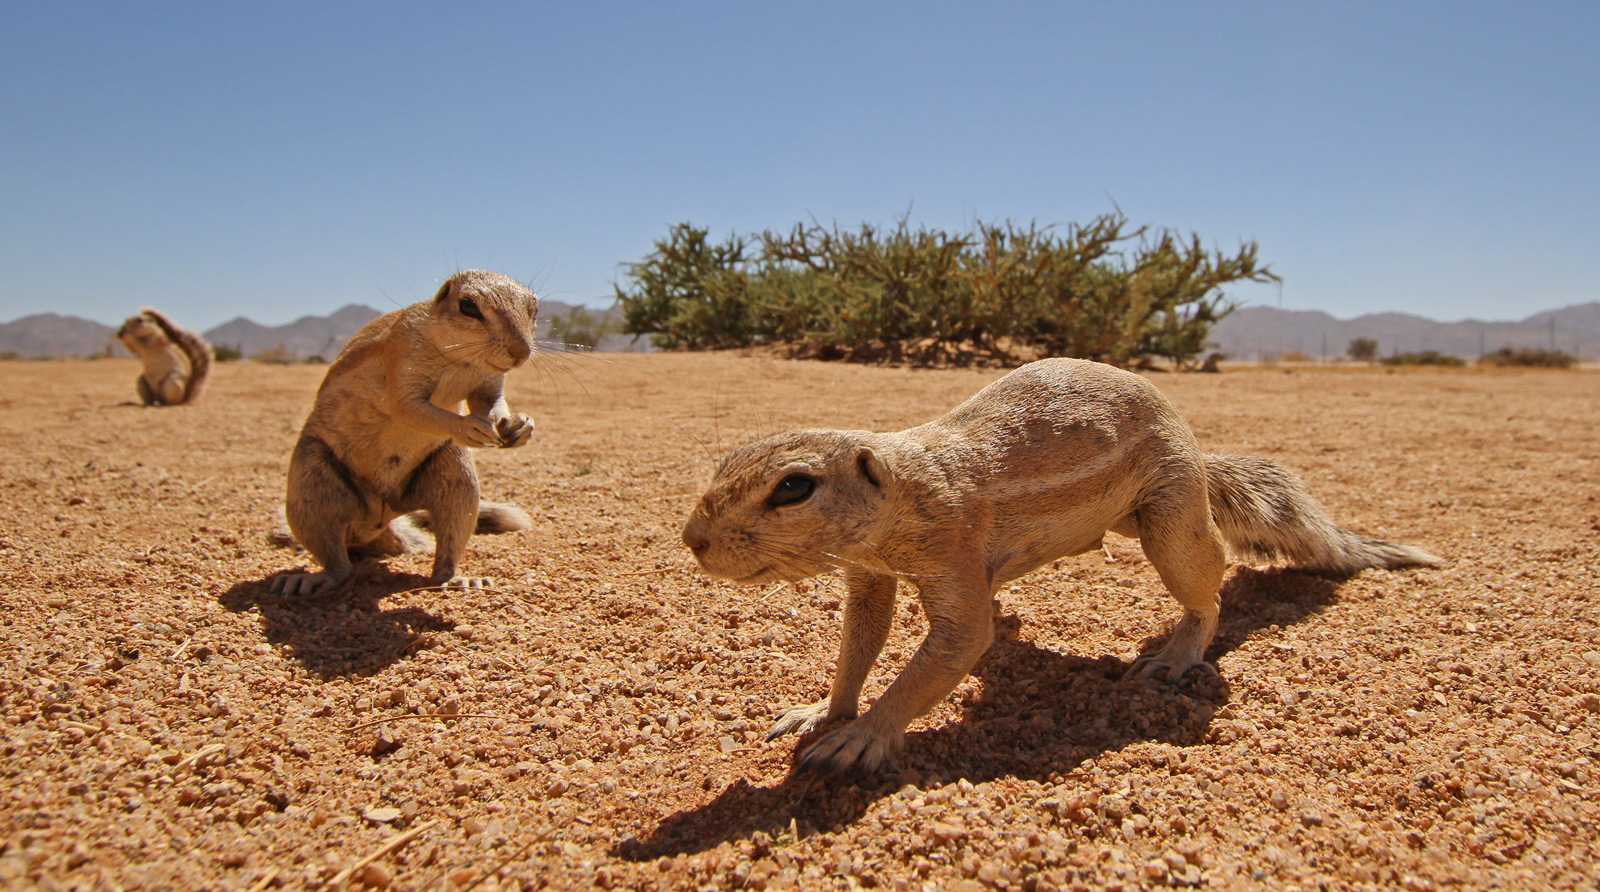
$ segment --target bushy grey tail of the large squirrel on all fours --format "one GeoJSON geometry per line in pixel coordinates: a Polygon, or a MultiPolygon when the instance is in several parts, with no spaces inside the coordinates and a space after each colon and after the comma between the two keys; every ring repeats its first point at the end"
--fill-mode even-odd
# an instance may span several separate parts
{"type": "Polygon", "coordinates": [[[1294,475],[1269,459],[1206,456],[1205,472],[1211,518],[1229,547],[1243,556],[1282,558],[1296,567],[1336,574],[1442,563],[1421,548],[1333,523],[1294,475]]]}

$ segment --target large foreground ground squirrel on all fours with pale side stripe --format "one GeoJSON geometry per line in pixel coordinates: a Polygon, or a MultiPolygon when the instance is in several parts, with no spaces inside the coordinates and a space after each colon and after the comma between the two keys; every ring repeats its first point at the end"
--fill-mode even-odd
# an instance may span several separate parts
{"type": "Polygon", "coordinates": [[[1218,623],[1226,545],[1349,574],[1437,564],[1427,552],[1334,524],[1267,459],[1206,456],[1142,377],[1043,360],[949,414],[898,433],[797,430],[734,449],[683,529],[712,575],[747,583],[843,569],[845,631],[826,700],[787,710],[768,740],[854,718],[883,649],[898,579],[914,583],[928,635],[859,719],[806,750],[802,767],[874,772],[906,727],[971,671],[992,638],[992,598],[1056,558],[1138,537],[1184,615],[1128,675],[1176,681],[1218,623]]]}

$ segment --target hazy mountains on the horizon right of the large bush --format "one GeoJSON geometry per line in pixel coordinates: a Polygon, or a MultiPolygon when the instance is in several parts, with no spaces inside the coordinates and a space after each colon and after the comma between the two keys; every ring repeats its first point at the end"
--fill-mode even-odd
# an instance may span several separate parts
{"type": "Polygon", "coordinates": [[[1501,347],[1555,347],[1584,360],[1600,356],[1600,302],[1534,313],[1522,321],[1453,323],[1410,313],[1370,313],[1338,320],[1320,310],[1245,307],[1211,329],[1218,350],[1258,360],[1299,350],[1310,358],[1341,356],[1350,340],[1371,337],[1381,353],[1438,350],[1466,360],[1501,347]]]}

